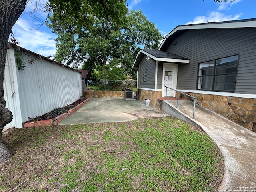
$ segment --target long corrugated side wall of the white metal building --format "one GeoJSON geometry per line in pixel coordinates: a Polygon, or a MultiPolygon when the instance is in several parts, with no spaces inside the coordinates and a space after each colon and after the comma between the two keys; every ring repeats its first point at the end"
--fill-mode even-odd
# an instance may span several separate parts
{"type": "MultiPolygon", "coordinates": [[[[14,51],[13,48],[9,50],[14,51]]],[[[17,99],[20,102],[22,122],[27,121],[28,117],[41,116],[54,108],[64,107],[79,99],[77,71],[41,59],[26,50],[21,51],[26,68],[18,70],[15,67],[15,69],[19,76],[16,82],[19,93],[17,99]]],[[[7,76],[5,80],[10,82],[7,76]]],[[[8,99],[12,100],[10,96],[8,99]]],[[[22,127],[17,126],[16,124],[16,128],[22,127]]]]}

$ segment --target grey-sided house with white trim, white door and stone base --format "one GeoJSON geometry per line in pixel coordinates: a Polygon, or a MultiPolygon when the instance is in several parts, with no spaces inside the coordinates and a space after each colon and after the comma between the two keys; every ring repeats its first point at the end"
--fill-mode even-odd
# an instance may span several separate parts
{"type": "MultiPolygon", "coordinates": [[[[164,97],[164,86],[196,96],[197,104],[256,129],[256,18],[177,26],[158,50],[138,52],[140,99],[164,97]]],[[[176,92],[168,89],[167,96],[176,92]]]]}

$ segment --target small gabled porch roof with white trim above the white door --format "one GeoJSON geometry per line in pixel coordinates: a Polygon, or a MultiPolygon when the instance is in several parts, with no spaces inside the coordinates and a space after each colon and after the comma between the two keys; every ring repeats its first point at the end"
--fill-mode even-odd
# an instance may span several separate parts
{"type": "Polygon", "coordinates": [[[170,63],[178,63],[178,64],[189,63],[189,59],[176,54],[155,50],[155,49],[141,49],[136,56],[136,59],[132,66],[132,70],[138,71],[138,66],[142,61],[142,59],[144,58],[144,56],[147,56],[149,59],[153,59],[155,61],[160,61],[160,62],[170,62],[170,63]]]}

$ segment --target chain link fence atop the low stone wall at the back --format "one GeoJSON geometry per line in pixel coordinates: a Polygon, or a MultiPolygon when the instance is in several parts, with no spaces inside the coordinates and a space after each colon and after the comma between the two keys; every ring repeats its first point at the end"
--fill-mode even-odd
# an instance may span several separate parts
{"type": "Polygon", "coordinates": [[[82,80],[82,90],[122,91],[137,90],[136,80],[82,80]]]}

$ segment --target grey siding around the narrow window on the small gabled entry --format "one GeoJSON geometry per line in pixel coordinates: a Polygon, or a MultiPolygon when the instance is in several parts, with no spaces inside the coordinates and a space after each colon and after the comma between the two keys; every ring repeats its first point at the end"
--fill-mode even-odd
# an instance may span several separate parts
{"type": "Polygon", "coordinates": [[[155,74],[156,74],[156,62],[154,62],[152,59],[146,60],[146,56],[143,57],[141,61],[141,74],[140,74],[140,82],[142,88],[149,88],[154,89],[155,88],[155,74]],[[147,79],[146,82],[143,82],[143,72],[144,70],[147,70],[147,79]]]}

